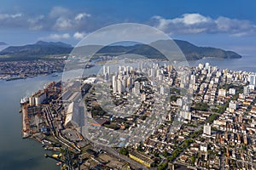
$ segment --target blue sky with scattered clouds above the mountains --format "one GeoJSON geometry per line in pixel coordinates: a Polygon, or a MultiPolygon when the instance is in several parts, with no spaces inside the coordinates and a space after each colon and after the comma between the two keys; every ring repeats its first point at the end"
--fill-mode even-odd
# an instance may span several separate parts
{"type": "Polygon", "coordinates": [[[4,0],[0,42],[61,41],[74,46],[104,26],[129,22],[153,26],[198,46],[253,55],[255,8],[253,0],[4,0]]]}

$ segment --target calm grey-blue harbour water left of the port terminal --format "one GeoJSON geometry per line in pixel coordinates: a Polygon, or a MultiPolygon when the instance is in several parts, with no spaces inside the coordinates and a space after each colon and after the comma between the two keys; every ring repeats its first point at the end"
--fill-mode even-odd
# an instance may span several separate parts
{"type": "MultiPolygon", "coordinates": [[[[61,77],[35,77],[26,80],[0,81],[0,169],[59,169],[46,159],[46,151],[32,139],[21,138],[20,99],[61,77]]],[[[49,153],[49,152],[48,152],[49,153]]]]}

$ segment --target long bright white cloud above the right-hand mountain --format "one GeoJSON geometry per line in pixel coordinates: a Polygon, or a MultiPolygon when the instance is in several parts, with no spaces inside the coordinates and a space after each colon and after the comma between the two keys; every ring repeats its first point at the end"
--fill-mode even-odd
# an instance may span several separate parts
{"type": "Polygon", "coordinates": [[[183,14],[174,19],[152,17],[154,26],[167,34],[227,33],[231,36],[245,36],[256,33],[256,26],[248,20],[236,20],[219,16],[217,19],[201,14],[183,14]]]}

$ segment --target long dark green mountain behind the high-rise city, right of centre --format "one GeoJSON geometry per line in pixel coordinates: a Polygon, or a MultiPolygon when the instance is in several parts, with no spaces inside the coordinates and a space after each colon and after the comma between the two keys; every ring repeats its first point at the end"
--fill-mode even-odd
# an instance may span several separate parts
{"type": "MultiPolygon", "coordinates": [[[[160,47],[161,50],[165,51],[172,51],[170,50],[170,44],[175,46],[173,41],[171,40],[159,40],[156,42],[152,42],[149,45],[146,44],[137,44],[133,46],[108,46],[104,47],[98,51],[98,54],[113,54],[113,51],[116,53],[121,54],[140,54],[143,56],[147,56],[148,58],[165,58],[163,54],[161,54],[157,49],[152,47],[160,47]]],[[[183,54],[185,55],[186,59],[188,60],[196,60],[202,58],[219,58],[219,59],[239,59],[241,55],[236,54],[233,51],[225,51],[220,48],[211,48],[211,47],[197,47],[190,42],[186,42],[183,40],[174,40],[177,46],[181,49],[183,54]]],[[[172,47],[171,47],[172,48],[172,47]]],[[[177,48],[174,48],[176,50],[177,48]]],[[[172,56],[175,52],[171,52],[170,55],[172,56]]]]}

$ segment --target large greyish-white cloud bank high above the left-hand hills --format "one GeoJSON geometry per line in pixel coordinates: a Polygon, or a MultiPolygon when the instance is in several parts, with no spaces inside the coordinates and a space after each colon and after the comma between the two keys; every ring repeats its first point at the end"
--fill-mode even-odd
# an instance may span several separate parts
{"type": "MultiPolygon", "coordinates": [[[[68,8],[57,6],[49,14],[1,14],[1,28],[25,28],[33,31],[94,31],[100,27],[98,20],[92,20],[86,11],[73,12],[68,8]]],[[[104,26],[104,23],[103,25],[104,26]]]]}

